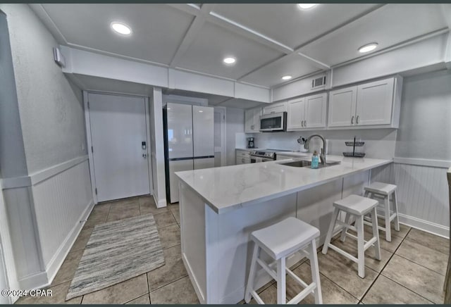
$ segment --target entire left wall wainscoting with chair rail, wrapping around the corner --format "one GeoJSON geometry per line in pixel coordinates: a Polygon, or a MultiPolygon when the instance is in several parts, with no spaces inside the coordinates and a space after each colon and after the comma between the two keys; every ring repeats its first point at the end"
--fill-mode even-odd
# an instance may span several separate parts
{"type": "Polygon", "coordinates": [[[19,287],[46,287],[94,206],[87,156],[20,180],[2,180],[5,182],[2,186],[19,287]]]}

